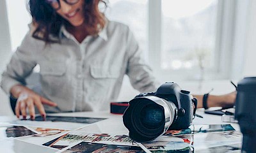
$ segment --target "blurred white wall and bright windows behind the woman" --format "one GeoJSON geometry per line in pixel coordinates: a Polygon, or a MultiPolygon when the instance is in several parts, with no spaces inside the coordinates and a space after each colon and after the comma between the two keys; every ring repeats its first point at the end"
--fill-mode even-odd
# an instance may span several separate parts
{"type": "MultiPolygon", "coordinates": [[[[0,73],[28,31],[27,3],[0,1],[0,73]]],[[[109,0],[99,7],[129,25],[159,82],[224,94],[234,91],[229,80],[256,76],[256,0],[109,0]]],[[[118,100],[137,93],[125,78],[118,100]]],[[[12,113],[3,91],[0,106],[0,115],[12,113]]]]}

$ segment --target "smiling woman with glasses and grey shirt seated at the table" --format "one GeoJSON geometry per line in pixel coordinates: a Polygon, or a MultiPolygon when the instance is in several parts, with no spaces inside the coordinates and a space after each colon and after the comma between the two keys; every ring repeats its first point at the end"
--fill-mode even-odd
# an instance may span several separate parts
{"type": "MultiPolygon", "coordinates": [[[[106,110],[108,102],[118,97],[124,75],[140,92],[159,87],[129,27],[107,20],[99,3],[106,4],[103,0],[29,1],[33,25],[1,82],[4,91],[18,98],[17,117],[21,113],[26,118],[28,108],[35,119],[35,106],[43,117],[45,110],[106,110]],[[36,64],[40,65],[40,94],[24,86],[36,64]]],[[[215,101],[209,96],[209,105],[216,106],[215,101]]]]}

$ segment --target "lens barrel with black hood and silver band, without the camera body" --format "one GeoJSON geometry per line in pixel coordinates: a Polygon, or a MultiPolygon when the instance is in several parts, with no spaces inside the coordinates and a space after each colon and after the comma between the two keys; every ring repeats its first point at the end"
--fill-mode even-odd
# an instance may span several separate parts
{"type": "Polygon", "coordinates": [[[156,96],[134,98],[124,113],[123,121],[136,142],[150,142],[163,135],[175,120],[174,103],[156,96]]]}

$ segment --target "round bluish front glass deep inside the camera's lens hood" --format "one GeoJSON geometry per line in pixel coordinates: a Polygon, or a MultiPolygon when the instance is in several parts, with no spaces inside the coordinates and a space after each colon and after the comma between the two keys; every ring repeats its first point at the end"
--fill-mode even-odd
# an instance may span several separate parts
{"type": "Polygon", "coordinates": [[[161,126],[164,121],[164,112],[159,106],[149,105],[145,106],[140,113],[140,120],[143,126],[148,129],[156,129],[161,126]]]}

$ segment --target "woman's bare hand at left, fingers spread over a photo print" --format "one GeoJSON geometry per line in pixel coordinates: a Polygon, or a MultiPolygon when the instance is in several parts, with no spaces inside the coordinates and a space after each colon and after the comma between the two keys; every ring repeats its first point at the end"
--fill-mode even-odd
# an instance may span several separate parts
{"type": "Polygon", "coordinates": [[[57,106],[56,103],[49,101],[48,99],[43,98],[42,96],[36,94],[28,87],[24,87],[23,85],[15,85],[11,89],[12,95],[17,98],[17,103],[15,106],[15,114],[17,118],[20,117],[20,113],[23,117],[23,119],[26,119],[27,117],[27,108],[29,110],[30,119],[35,119],[35,106],[38,108],[38,111],[42,115],[42,117],[45,119],[46,113],[44,110],[45,105],[49,106],[57,106]]]}

